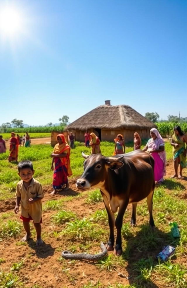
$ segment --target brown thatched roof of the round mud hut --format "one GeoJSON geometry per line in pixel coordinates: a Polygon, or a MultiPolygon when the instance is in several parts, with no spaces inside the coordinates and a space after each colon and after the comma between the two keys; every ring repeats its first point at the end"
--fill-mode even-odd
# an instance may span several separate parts
{"type": "Polygon", "coordinates": [[[127,105],[101,105],[75,120],[65,130],[99,129],[151,129],[151,121],[127,105]]]}

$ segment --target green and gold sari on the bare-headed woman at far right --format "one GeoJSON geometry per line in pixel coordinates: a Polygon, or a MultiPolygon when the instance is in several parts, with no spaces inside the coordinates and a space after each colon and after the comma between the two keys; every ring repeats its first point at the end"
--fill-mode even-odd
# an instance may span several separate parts
{"type": "Polygon", "coordinates": [[[173,159],[175,160],[176,158],[179,157],[179,163],[182,168],[186,167],[186,157],[184,156],[184,151],[185,151],[185,144],[180,138],[174,133],[172,136],[173,143],[178,144],[178,147],[173,146],[173,159]]]}

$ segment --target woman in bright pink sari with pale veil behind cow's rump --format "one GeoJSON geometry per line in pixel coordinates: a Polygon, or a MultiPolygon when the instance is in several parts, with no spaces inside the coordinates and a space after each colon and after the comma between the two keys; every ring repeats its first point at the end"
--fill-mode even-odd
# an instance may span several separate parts
{"type": "Polygon", "coordinates": [[[164,175],[166,175],[166,152],[165,143],[162,136],[156,128],[150,130],[151,139],[148,140],[146,147],[143,151],[147,151],[153,156],[155,160],[154,176],[157,184],[161,184],[164,181],[164,175]]]}

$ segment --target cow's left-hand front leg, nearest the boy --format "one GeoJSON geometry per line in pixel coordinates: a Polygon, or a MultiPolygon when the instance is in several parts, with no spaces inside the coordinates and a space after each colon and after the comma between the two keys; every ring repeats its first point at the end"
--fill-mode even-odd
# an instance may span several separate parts
{"type": "Polygon", "coordinates": [[[110,227],[110,236],[109,236],[108,242],[106,244],[106,248],[107,248],[107,251],[113,251],[114,250],[115,217],[114,217],[114,213],[112,213],[112,211],[110,209],[110,206],[109,206],[109,203],[108,203],[108,200],[107,200],[106,196],[103,195],[103,194],[102,194],[102,196],[103,196],[105,208],[106,208],[106,211],[107,211],[107,214],[108,214],[108,224],[109,224],[109,227],[110,227]]]}

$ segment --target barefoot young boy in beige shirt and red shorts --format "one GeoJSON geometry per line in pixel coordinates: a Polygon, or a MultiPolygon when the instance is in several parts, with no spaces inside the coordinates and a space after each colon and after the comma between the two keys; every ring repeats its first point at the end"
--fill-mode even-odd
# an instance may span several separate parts
{"type": "Polygon", "coordinates": [[[31,237],[30,233],[30,220],[33,220],[37,241],[36,245],[40,246],[43,241],[41,239],[41,199],[44,197],[41,184],[33,178],[34,170],[32,162],[25,160],[18,164],[18,175],[22,180],[17,184],[16,188],[16,204],[14,208],[15,214],[18,214],[19,205],[21,201],[21,217],[23,220],[23,227],[25,228],[26,235],[21,241],[28,241],[31,237]]]}

